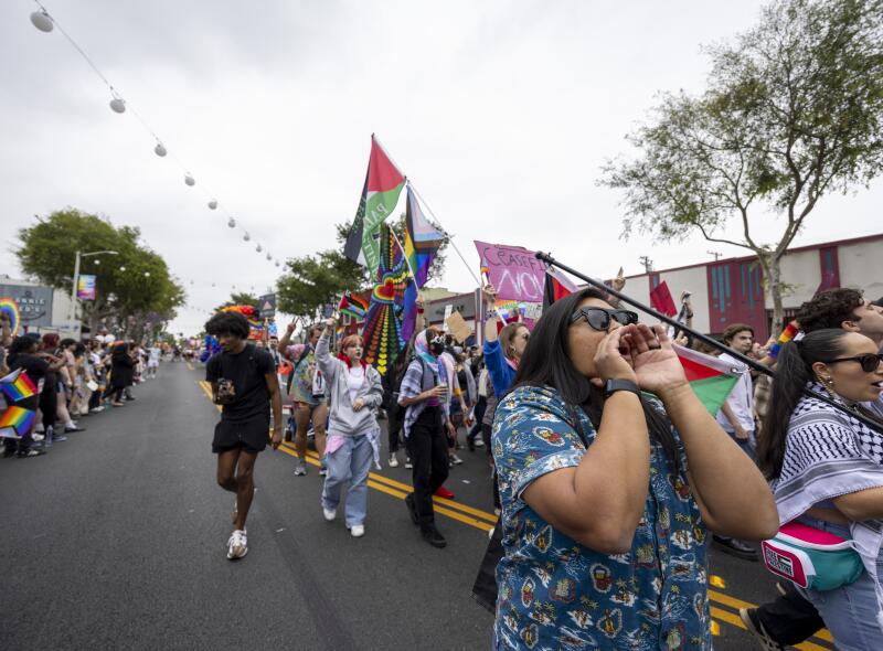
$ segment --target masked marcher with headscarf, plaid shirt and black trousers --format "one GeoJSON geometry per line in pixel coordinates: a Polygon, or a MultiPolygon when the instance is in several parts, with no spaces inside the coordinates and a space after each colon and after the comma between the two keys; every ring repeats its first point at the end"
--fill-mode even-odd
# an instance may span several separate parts
{"type": "Polygon", "coordinates": [[[398,392],[398,404],[405,407],[405,440],[414,466],[414,492],[405,497],[405,504],[423,538],[438,548],[447,541],[435,525],[433,493],[448,478],[447,437],[454,433],[446,399],[450,380],[438,359],[444,351],[445,335],[440,331],[428,328],[417,333],[414,360],[398,392]]]}

